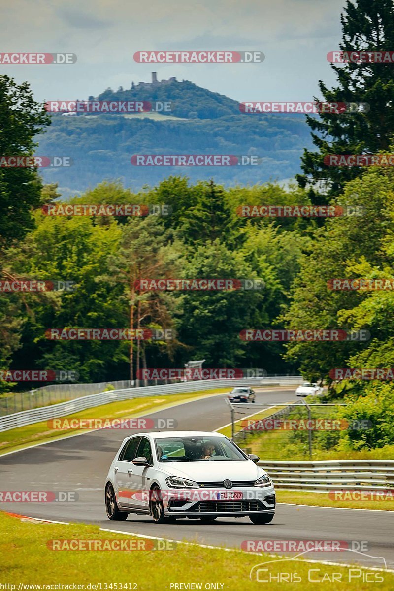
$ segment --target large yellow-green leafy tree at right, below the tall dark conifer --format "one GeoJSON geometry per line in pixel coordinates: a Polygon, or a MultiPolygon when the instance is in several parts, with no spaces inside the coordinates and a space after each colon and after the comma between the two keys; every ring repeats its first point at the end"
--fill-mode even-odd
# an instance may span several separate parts
{"type": "MultiPolygon", "coordinates": [[[[348,183],[337,202],[344,207],[359,206],[363,215],[328,219],[299,259],[301,268],[292,284],[291,304],[282,316],[286,326],[366,329],[372,337],[371,345],[289,343],[288,358],[298,361],[301,371],[314,381],[328,378],[330,369],[349,367],[349,359],[352,363],[367,361],[369,346],[376,350],[376,342],[383,345],[392,334],[391,292],[333,291],[328,282],[334,278],[391,277],[393,178],[391,171],[374,169],[348,183]]],[[[378,363],[379,356],[373,361],[378,363]]]]}

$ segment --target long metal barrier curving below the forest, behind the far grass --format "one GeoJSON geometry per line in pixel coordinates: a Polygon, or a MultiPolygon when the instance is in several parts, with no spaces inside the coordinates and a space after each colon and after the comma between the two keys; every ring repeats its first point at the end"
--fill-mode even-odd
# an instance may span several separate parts
{"type": "Polygon", "coordinates": [[[32,408],[31,410],[21,411],[20,413],[8,414],[0,417],[0,431],[8,431],[16,427],[48,421],[51,418],[64,417],[69,414],[77,413],[86,408],[108,404],[129,398],[141,398],[145,396],[163,396],[169,394],[178,394],[180,392],[196,392],[199,390],[209,390],[213,388],[235,388],[237,386],[259,386],[259,385],[281,385],[294,386],[301,384],[301,376],[275,376],[273,378],[242,378],[242,379],[204,379],[193,382],[181,382],[180,384],[167,384],[159,386],[146,386],[139,388],[123,388],[121,390],[110,390],[108,392],[99,392],[99,394],[90,394],[82,398],[74,398],[60,404],[53,404],[47,407],[32,408]]]}

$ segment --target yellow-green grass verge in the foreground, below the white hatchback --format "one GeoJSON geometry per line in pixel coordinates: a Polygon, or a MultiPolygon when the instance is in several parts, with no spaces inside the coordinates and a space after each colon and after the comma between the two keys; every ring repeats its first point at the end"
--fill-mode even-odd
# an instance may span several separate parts
{"type": "MultiPolygon", "coordinates": [[[[116,528],[115,524],[113,527],[116,528]]],[[[255,526],[251,525],[251,529],[253,527],[255,526]]],[[[158,527],[157,535],[164,535],[163,528],[158,527]]],[[[22,521],[0,512],[0,552],[4,557],[0,565],[1,581],[4,584],[15,585],[15,587],[7,587],[11,591],[18,589],[19,584],[40,584],[43,590],[44,585],[58,583],[71,585],[76,583],[84,585],[84,589],[127,589],[127,591],[129,589],[141,591],[168,589],[170,591],[175,589],[173,586],[175,583],[200,583],[201,587],[189,588],[209,589],[206,583],[219,583],[219,586],[212,588],[236,591],[256,589],[256,580],[249,579],[250,569],[265,561],[275,560],[268,554],[256,556],[242,551],[224,551],[187,544],[177,544],[172,550],[148,551],[61,551],[51,550],[47,546],[50,540],[130,541],[133,539],[141,540],[125,534],[100,531],[95,525],[22,521]],[[91,586],[87,587],[89,583],[91,586]],[[101,583],[102,586],[92,586],[97,583],[101,583]],[[122,587],[121,584],[126,586],[122,587]]],[[[278,560],[281,559],[278,558],[278,560]]],[[[324,560],[324,557],[321,560],[324,560]]],[[[321,591],[349,589],[349,584],[357,585],[357,589],[367,590],[370,589],[372,581],[379,582],[379,589],[384,591],[389,591],[394,586],[392,573],[367,571],[361,567],[352,571],[347,567],[312,564],[299,560],[281,560],[263,565],[262,568],[268,568],[268,571],[261,571],[259,575],[261,582],[271,577],[278,577],[278,573],[281,572],[291,573],[293,576],[297,573],[297,581],[286,584],[286,589],[290,590],[299,589],[300,579],[304,583],[302,589],[315,589],[315,581],[321,581],[319,585],[321,591]],[[332,582],[334,574],[336,581],[332,582]],[[369,577],[370,582],[363,582],[366,576],[369,577]]],[[[83,589],[83,587],[80,588],[83,589]]],[[[178,586],[177,588],[188,587],[178,586]]],[[[278,582],[276,578],[269,583],[269,588],[274,591],[283,589],[284,583],[278,582]]]]}

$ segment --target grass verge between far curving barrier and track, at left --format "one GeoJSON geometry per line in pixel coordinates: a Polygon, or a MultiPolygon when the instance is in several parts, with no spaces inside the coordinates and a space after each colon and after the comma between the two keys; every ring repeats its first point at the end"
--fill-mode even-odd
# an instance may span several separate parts
{"type": "MultiPolygon", "coordinates": [[[[201,390],[198,392],[181,392],[180,394],[172,394],[167,396],[149,396],[145,398],[130,398],[121,402],[110,402],[99,407],[88,408],[67,415],[68,418],[131,418],[141,417],[148,412],[154,412],[169,408],[174,404],[180,402],[187,402],[201,396],[209,396],[213,394],[220,394],[227,392],[228,389],[211,389],[201,390]]],[[[110,394],[110,392],[109,392],[110,394]]],[[[72,400],[70,404],[72,404],[72,400]]],[[[26,425],[25,427],[17,427],[9,431],[2,431],[0,433],[0,455],[6,452],[13,452],[28,447],[43,441],[50,441],[51,439],[59,439],[60,437],[67,437],[76,433],[86,433],[86,430],[81,429],[66,429],[64,431],[54,430],[48,428],[47,421],[41,423],[34,423],[26,425]]]]}

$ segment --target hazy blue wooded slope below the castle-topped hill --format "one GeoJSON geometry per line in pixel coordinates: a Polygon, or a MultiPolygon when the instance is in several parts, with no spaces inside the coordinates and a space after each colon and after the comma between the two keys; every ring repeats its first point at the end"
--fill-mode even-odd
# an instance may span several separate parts
{"type": "MultiPolygon", "coordinates": [[[[213,94],[213,93],[212,93],[213,94]]],[[[294,177],[304,147],[312,142],[298,115],[236,115],[216,119],[160,120],[133,115],[52,116],[37,153],[67,156],[66,168],[43,168],[65,198],[114,178],[139,190],[171,174],[194,182],[215,178],[225,186],[294,177]],[[233,154],[258,157],[258,165],[216,167],[138,167],[133,154],[233,154]]]]}

